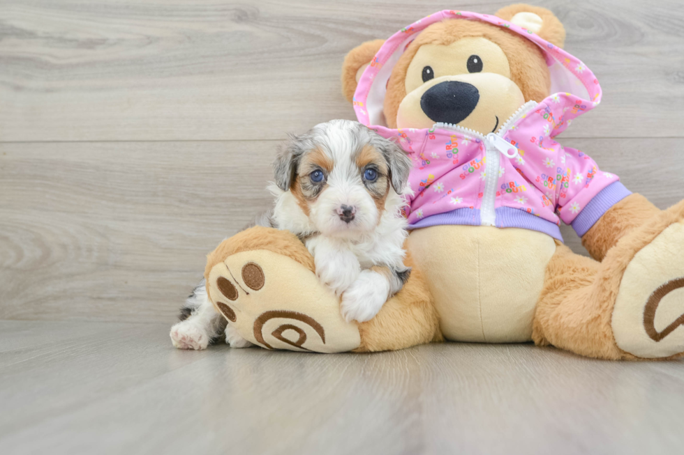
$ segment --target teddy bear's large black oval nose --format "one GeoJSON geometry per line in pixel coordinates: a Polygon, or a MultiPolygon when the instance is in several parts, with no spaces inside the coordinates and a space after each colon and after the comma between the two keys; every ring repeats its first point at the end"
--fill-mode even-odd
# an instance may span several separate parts
{"type": "Polygon", "coordinates": [[[474,85],[446,81],[428,88],[420,98],[420,107],[433,121],[456,124],[475,110],[478,101],[479,91],[474,85]]]}

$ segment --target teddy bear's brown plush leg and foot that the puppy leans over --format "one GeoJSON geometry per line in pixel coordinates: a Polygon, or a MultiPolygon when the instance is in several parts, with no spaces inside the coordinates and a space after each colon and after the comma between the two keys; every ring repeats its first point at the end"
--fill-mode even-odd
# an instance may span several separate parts
{"type": "Polygon", "coordinates": [[[247,229],[209,254],[207,293],[229,327],[269,349],[399,349],[438,339],[437,318],[419,272],[373,320],[346,323],[339,299],[315,275],[313,257],[287,231],[247,229]]]}

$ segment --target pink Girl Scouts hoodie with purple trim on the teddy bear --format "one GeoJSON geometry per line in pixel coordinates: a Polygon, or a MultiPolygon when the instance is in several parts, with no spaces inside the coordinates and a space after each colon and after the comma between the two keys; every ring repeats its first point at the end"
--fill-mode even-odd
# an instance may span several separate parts
{"type": "Polygon", "coordinates": [[[553,140],[600,100],[593,73],[563,49],[496,16],[443,10],[382,45],[359,81],[354,109],[359,122],[396,138],[413,160],[409,184],[415,194],[406,208],[410,229],[437,224],[517,227],[563,240],[560,219],[583,236],[630,194],[616,175],[553,140]],[[429,130],[387,128],[382,105],[394,64],[422,29],[454,18],[505,26],[539,46],[549,65],[553,95],[538,104],[527,102],[496,134],[486,136],[442,123],[429,130]]]}

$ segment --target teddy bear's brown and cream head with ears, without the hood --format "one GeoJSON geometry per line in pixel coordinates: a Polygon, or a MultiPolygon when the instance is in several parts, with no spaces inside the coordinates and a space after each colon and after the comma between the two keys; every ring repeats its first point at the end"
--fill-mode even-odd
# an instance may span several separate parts
{"type": "MultiPolygon", "coordinates": [[[[565,29],[544,8],[513,5],[497,17],[563,47],[565,29]]],[[[350,102],[383,40],[346,56],[343,92],[350,102]]],[[[452,123],[494,132],[525,102],[549,95],[551,78],[540,48],[505,27],[475,20],[443,20],[418,33],[396,61],[387,82],[384,114],[389,128],[431,128],[452,123]]]]}

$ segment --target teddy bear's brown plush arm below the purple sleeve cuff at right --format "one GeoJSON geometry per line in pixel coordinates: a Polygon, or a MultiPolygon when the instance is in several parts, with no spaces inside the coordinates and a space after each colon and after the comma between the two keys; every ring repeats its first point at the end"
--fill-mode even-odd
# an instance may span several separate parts
{"type": "Polygon", "coordinates": [[[630,194],[609,208],[582,236],[582,245],[591,257],[602,261],[609,249],[630,231],[657,216],[660,209],[641,194],[630,194]]]}

